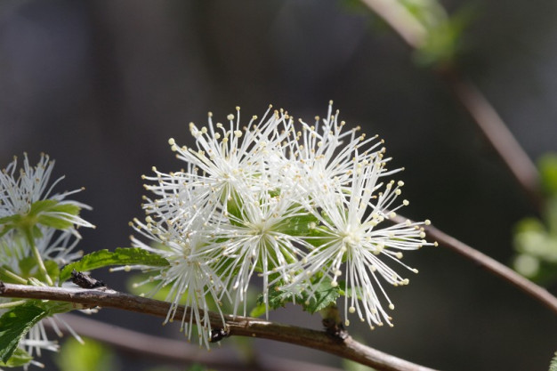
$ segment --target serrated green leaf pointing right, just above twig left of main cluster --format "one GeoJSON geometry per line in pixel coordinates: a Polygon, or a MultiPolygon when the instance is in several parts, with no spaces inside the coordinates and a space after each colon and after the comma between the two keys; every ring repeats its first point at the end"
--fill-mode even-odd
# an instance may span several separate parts
{"type": "Polygon", "coordinates": [[[86,254],[81,260],[72,262],[62,268],[60,283],[71,276],[72,270],[96,270],[111,265],[146,265],[149,267],[165,267],[169,262],[160,255],[149,253],[140,247],[118,247],[114,252],[107,249],[86,254]]]}

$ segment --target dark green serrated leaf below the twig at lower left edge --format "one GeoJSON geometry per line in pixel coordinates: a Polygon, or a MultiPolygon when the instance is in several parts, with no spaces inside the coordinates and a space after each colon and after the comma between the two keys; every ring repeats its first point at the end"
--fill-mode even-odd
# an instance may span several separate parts
{"type": "Polygon", "coordinates": [[[8,362],[28,330],[49,313],[37,306],[37,301],[27,302],[6,311],[0,317],[0,360],[8,362]]]}

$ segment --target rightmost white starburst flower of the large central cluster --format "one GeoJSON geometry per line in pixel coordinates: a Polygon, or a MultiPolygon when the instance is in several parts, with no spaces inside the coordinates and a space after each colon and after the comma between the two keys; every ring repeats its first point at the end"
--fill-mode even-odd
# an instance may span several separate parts
{"type": "Polygon", "coordinates": [[[374,324],[382,326],[383,319],[392,325],[380,296],[389,302],[390,309],[394,309],[394,305],[384,292],[381,281],[393,286],[408,284],[408,278],[402,278],[387,262],[394,261],[408,268],[400,262],[402,251],[432,245],[424,240],[424,230],[419,227],[423,224],[421,222],[378,227],[379,223],[393,217],[400,206],[408,205],[404,200],[402,205],[393,207],[403,183],[399,181],[395,185],[390,181],[383,185],[380,182],[383,165],[383,162],[370,163],[368,159],[355,157],[349,172],[350,190],[330,193],[328,197],[323,194],[314,199],[318,208],[313,214],[319,219],[317,228],[322,244],[307,254],[302,262],[292,266],[299,274],[284,286],[285,289],[302,286],[313,295],[322,279],[330,278],[332,285],[337,286],[339,279],[343,278],[346,323],[349,324],[348,312],[356,312],[359,319],[367,321],[371,328],[374,324]],[[343,262],[346,265],[344,270],[343,262]],[[317,273],[322,273],[323,277],[317,276],[317,282],[311,282],[317,273]]]}

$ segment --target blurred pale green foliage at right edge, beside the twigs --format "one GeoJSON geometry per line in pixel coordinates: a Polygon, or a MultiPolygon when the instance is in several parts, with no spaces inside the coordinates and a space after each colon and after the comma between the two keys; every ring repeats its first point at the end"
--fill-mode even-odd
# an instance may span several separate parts
{"type": "Polygon", "coordinates": [[[541,219],[525,218],[514,230],[517,255],[514,269],[544,285],[557,280],[557,154],[547,154],[538,161],[545,192],[545,210],[541,219]]]}

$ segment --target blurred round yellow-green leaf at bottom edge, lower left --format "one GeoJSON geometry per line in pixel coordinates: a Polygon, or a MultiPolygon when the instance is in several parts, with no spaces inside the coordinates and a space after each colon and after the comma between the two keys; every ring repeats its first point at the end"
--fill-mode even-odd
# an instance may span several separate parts
{"type": "Polygon", "coordinates": [[[115,370],[115,355],[102,343],[84,339],[85,345],[69,338],[61,347],[56,363],[61,371],[115,370]]]}

